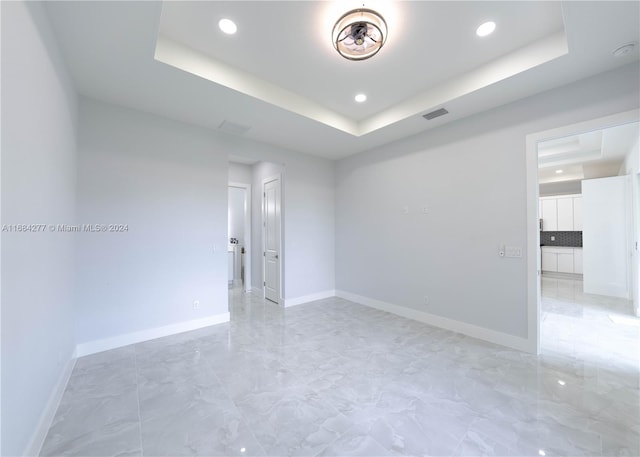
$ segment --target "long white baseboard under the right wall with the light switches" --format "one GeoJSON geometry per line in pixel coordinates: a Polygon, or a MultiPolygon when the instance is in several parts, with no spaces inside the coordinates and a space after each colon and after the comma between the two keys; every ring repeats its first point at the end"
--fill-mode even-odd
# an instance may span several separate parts
{"type": "Polygon", "coordinates": [[[507,346],[517,349],[518,351],[531,352],[534,354],[536,352],[535,341],[532,343],[526,338],[497,332],[488,328],[478,327],[477,325],[467,324],[466,322],[456,321],[446,317],[437,316],[435,314],[425,313],[424,311],[406,308],[404,306],[393,305],[391,303],[363,297],[362,295],[352,294],[351,292],[345,292],[343,290],[337,290],[336,296],[380,311],[386,311],[408,319],[424,322],[425,324],[440,327],[445,330],[451,330],[452,332],[462,333],[463,335],[478,338],[479,340],[488,341],[501,346],[507,346]]]}

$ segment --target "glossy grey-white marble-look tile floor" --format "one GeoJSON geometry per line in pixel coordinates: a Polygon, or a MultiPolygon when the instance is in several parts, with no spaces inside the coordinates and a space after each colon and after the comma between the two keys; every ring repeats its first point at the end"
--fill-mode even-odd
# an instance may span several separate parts
{"type": "Polygon", "coordinates": [[[543,278],[540,357],[341,299],[84,357],[42,455],[640,455],[628,302],[543,278]]]}

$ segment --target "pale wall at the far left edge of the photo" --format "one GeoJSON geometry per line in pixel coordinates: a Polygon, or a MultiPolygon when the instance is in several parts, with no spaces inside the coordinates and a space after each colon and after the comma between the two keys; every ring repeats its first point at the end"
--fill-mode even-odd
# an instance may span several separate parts
{"type": "MultiPolygon", "coordinates": [[[[2,224],[75,222],[76,111],[42,4],[3,2],[2,224]]],[[[73,274],[73,234],[2,233],[2,455],[38,452],[57,406],[73,274]]]]}

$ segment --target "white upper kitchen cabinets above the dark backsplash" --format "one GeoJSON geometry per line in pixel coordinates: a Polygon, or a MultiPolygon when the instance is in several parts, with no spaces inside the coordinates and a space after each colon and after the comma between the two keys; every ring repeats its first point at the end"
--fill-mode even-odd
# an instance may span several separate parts
{"type": "Polygon", "coordinates": [[[540,217],[545,232],[582,230],[582,196],[563,195],[540,198],[540,217]]]}

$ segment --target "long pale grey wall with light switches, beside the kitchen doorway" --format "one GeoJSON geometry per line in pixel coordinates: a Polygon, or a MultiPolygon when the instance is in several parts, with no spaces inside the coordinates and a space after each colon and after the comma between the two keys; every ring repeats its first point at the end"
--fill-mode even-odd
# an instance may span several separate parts
{"type": "Polygon", "coordinates": [[[637,81],[626,66],[341,160],[336,288],[528,338],[525,136],[637,108],[637,81]]]}

